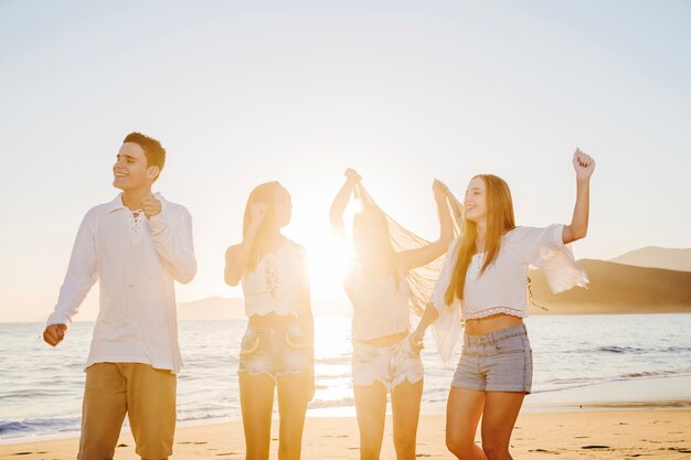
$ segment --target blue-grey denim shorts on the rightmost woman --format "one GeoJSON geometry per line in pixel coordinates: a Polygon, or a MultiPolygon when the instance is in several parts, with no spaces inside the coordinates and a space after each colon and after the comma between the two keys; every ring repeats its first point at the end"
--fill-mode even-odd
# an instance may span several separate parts
{"type": "Polygon", "coordinates": [[[528,394],[532,379],[533,357],[525,324],[486,335],[464,334],[453,387],[528,394]]]}

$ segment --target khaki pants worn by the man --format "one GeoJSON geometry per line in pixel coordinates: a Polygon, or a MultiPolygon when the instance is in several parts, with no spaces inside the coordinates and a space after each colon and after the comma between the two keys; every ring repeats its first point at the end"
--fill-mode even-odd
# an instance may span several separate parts
{"type": "Polygon", "coordinates": [[[139,363],[97,363],[86,370],[79,460],[115,454],[125,414],[145,459],[172,454],[177,378],[170,371],[139,363]]]}

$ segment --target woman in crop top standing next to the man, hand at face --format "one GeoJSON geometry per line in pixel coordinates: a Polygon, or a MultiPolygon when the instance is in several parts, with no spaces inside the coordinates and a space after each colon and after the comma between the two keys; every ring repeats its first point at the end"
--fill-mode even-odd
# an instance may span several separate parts
{"type": "Polygon", "coordinates": [[[313,320],[305,248],[280,229],[291,216],[278,182],[249,194],[242,243],[225,254],[225,281],[242,282],[247,332],[240,351],[240,404],[247,458],[268,459],[274,393],[278,457],[299,459],[307,404],[315,394],[313,320]]]}

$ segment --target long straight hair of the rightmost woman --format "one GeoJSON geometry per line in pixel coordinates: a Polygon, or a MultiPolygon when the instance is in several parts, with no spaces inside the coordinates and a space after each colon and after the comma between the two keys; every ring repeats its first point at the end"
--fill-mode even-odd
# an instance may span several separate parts
{"type": "MultiPolygon", "coordinates": [[[[487,200],[486,257],[479,275],[482,276],[487,267],[497,259],[499,249],[501,249],[501,238],[507,232],[515,228],[515,222],[513,218],[511,191],[507,182],[492,174],[478,174],[472,179],[476,178],[480,178],[482,182],[485,182],[487,200]]],[[[464,298],[468,266],[470,265],[472,255],[477,253],[477,224],[465,220],[456,253],[456,265],[454,266],[451,280],[444,296],[446,304],[451,304],[455,299],[463,300],[464,298]]]]}

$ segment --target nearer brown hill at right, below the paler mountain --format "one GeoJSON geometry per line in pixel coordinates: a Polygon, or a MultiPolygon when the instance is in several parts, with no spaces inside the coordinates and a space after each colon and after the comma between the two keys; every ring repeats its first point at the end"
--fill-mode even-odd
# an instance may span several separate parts
{"type": "MultiPolygon", "coordinates": [[[[534,302],[552,314],[691,312],[691,271],[644,268],[604,260],[578,261],[588,289],[553,295],[544,275],[531,270],[534,302]]],[[[531,307],[531,313],[544,313],[531,307]]]]}

